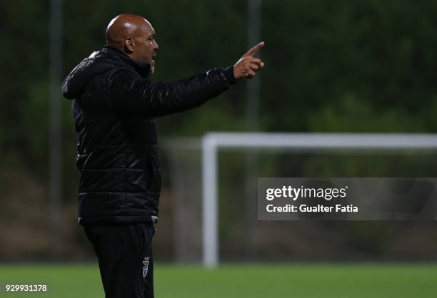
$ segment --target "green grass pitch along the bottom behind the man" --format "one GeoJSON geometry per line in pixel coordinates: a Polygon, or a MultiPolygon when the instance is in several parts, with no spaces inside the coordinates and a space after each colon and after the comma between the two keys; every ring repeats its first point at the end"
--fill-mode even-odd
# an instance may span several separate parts
{"type": "MultiPolygon", "coordinates": [[[[156,298],[435,298],[437,264],[223,265],[215,270],[156,264],[156,298]]],[[[0,297],[104,297],[99,269],[86,265],[0,265],[0,297]],[[49,292],[6,292],[5,284],[49,292]]]]}

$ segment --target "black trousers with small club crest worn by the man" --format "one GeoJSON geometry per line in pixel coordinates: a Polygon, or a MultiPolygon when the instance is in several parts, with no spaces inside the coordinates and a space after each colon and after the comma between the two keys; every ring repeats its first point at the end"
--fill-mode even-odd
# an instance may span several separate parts
{"type": "Polygon", "coordinates": [[[106,298],[154,298],[152,223],[84,227],[97,258],[106,298]]]}

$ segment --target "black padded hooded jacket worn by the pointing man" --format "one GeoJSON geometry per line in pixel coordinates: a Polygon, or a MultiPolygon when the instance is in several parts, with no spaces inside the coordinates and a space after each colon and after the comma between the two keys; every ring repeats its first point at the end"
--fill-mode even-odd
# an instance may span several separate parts
{"type": "Polygon", "coordinates": [[[174,83],[150,81],[149,63],[111,46],[65,78],[76,128],[79,223],[158,218],[161,175],[154,118],[200,106],[235,83],[233,68],[214,68],[174,83]]]}

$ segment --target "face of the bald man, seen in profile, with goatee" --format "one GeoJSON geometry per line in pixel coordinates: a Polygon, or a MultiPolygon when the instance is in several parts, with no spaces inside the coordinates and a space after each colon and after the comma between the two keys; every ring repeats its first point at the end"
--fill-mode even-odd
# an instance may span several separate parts
{"type": "Polygon", "coordinates": [[[158,43],[155,41],[155,30],[149,22],[146,21],[144,26],[141,26],[139,35],[135,38],[135,51],[132,53],[132,58],[135,61],[147,62],[151,66],[150,72],[154,72],[155,61],[153,59],[158,51],[158,43]]]}

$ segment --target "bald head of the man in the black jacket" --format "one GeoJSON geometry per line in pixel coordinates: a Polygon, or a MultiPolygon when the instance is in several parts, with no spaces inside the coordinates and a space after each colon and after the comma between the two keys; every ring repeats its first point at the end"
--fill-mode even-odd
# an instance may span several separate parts
{"type": "Polygon", "coordinates": [[[142,16],[121,14],[109,22],[106,28],[106,43],[126,53],[135,61],[151,63],[158,50],[155,30],[142,16]]]}

